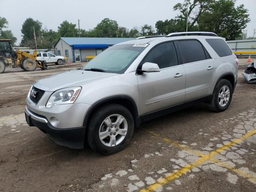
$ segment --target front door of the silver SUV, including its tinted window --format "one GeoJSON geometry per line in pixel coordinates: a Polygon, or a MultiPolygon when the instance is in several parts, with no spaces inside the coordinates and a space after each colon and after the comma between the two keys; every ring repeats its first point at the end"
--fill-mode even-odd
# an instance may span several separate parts
{"type": "Polygon", "coordinates": [[[160,72],[138,74],[140,114],[146,114],[183,103],[185,100],[186,74],[178,64],[173,42],[154,47],[142,63],[158,64],[160,72]]]}

